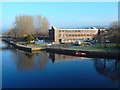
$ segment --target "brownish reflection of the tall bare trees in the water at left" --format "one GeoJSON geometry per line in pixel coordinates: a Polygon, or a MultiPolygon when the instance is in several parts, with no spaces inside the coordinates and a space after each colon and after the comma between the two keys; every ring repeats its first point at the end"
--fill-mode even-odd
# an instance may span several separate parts
{"type": "Polygon", "coordinates": [[[20,50],[14,52],[12,58],[20,71],[39,69],[43,70],[48,62],[46,51],[27,53],[20,50]]]}

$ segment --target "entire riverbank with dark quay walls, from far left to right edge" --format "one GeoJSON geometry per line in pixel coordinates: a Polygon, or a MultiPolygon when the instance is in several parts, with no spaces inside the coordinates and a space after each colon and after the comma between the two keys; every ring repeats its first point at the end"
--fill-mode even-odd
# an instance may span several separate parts
{"type": "Polygon", "coordinates": [[[106,58],[120,58],[120,47],[116,48],[114,44],[108,44],[106,48],[104,45],[94,44],[89,46],[73,46],[66,44],[58,44],[52,46],[36,45],[36,44],[18,44],[7,39],[2,39],[15,48],[27,52],[34,52],[40,50],[46,50],[51,53],[83,56],[83,57],[106,57],[106,58]]]}

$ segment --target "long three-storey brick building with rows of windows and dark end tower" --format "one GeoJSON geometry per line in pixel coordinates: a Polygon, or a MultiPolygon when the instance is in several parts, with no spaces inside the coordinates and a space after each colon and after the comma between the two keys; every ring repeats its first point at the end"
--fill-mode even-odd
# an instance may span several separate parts
{"type": "Polygon", "coordinates": [[[98,28],[92,27],[87,29],[59,29],[52,27],[49,30],[49,38],[51,42],[70,43],[77,40],[93,40],[98,34],[98,28]]]}

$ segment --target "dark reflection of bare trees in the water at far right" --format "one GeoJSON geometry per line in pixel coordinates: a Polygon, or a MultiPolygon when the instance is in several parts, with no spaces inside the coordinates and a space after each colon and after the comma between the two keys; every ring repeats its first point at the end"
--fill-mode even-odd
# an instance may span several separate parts
{"type": "Polygon", "coordinates": [[[110,78],[111,80],[120,80],[120,60],[94,59],[96,71],[110,78]]]}

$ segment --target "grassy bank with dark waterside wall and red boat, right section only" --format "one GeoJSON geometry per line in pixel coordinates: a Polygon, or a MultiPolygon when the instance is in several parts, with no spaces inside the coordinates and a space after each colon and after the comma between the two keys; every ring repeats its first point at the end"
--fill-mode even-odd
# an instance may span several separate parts
{"type": "Polygon", "coordinates": [[[64,47],[49,47],[47,48],[47,51],[52,53],[77,55],[83,57],[120,58],[120,47],[117,48],[115,44],[108,44],[106,48],[104,47],[104,44],[94,44],[89,46],[63,46],[64,47]]]}

